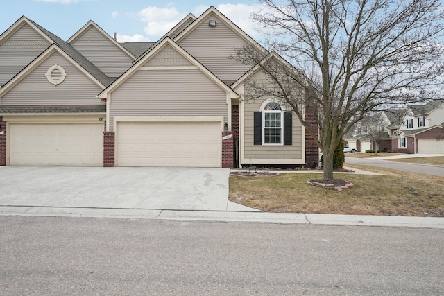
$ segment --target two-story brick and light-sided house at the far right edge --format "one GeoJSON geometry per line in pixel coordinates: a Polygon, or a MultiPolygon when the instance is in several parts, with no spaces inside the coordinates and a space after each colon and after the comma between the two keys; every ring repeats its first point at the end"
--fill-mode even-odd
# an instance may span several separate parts
{"type": "Polygon", "coordinates": [[[396,130],[392,127],[393,152],[444,153],[443,121],[444,101],[409,106],[396,130]]]}

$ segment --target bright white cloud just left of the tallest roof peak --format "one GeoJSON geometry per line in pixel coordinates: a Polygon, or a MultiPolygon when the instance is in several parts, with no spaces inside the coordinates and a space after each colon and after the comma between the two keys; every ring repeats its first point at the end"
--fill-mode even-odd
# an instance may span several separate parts
{"type": "Polygon", "coordinates": [[[137,12],[137,16],[147,24],[144,28],[147,35],[160,37],[176,26],[186,14],[178,12],[175,7],[169,4],[164,8],[148,6],[137,12]]]}

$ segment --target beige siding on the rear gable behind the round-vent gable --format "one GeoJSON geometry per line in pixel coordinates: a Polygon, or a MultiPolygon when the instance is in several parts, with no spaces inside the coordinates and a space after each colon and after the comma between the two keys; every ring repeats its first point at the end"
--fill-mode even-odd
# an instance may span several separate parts
{"type": "Polygon", "coordinates": [[[121,76],[133,63],[133,58],[94,27],[71,45],[109,77],[121,76]]]}

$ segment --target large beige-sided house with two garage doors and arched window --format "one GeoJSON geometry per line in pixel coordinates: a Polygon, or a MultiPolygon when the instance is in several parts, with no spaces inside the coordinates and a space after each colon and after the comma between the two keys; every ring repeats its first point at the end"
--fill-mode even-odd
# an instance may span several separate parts
{"type": "Polygon", "coordinates": [[[65,42],[22,17],[0,35],[0,165],[317,164],[291,110],[241,100],[262,75],[232,58],[246,44],[265,51],[214,7],[155,43],[93,21],[65,42]]]}

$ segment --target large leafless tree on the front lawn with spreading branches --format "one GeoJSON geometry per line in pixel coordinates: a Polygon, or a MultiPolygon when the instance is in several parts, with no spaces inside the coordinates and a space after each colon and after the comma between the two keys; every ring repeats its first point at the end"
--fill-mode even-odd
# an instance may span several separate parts
{"type": "Polygon", "coordinates": [[[237,58],[257,64],[267,78],[249,82],[245,99],[273,96],[291,107],[323,152],[325,180],[333,178],[337,143],[365,114],[443,91],[438,0],[258,2],[264,8],[253,19],[268,36],[268,51],[245,47],[237,58]]]}

